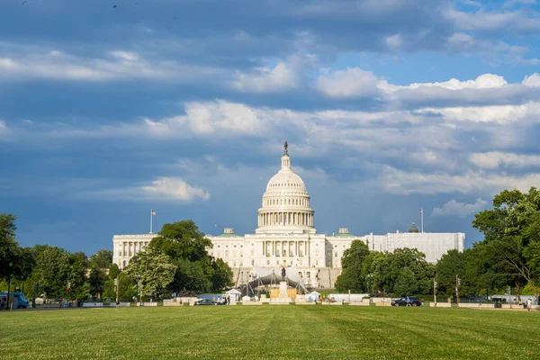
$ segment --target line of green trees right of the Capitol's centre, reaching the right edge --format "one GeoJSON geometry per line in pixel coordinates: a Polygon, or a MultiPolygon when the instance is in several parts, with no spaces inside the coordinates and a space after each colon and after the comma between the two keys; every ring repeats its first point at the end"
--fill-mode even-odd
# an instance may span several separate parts
{"type": "Polygon", "coordinates": [[[505,190],[494,196],[492,209],[477,213],[473,228],[482,241],[463,252],[448,251],[437,264],[429,264],[417,249],[393,253],[370,252],[361,240],[353,241],[342,257],[343,272],[336,289],[346,293],[403,296],[437,294],[489,296],[509,291],[538,298],[540,282],[540,192],[505,190]]]}

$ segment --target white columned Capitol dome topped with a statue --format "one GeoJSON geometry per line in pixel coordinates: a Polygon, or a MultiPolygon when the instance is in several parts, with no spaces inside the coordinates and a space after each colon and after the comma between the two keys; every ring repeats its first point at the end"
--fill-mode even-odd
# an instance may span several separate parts
{"type": "Polygon", "coordinates": [[[258,212],[257,233],[316,233],[310,194],[302,177],[291,168],[285,141],[281,169],[266,184],[258,212]]]}

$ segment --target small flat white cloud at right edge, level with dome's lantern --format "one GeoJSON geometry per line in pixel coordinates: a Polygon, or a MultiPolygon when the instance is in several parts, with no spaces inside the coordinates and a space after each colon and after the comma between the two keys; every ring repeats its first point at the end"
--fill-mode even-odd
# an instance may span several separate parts
{"type": "Polygon", "coordinates": [[[520,155],[508,152],[491,151],[473,153],[469,157],[471,163],[484,169],[495,169],[501,166],[511,168],[528,168],[540,166],[539,155],[520,155]]]}

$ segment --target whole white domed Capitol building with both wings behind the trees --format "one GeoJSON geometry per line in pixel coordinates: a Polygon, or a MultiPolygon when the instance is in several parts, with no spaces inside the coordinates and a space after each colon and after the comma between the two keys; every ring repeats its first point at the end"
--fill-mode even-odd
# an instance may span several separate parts
{"type": "MultiPolygon", "coordinates": [[[[257,210],[255,234],[238,235],[234,229],[207,235],[212,257],[221,258],[232,268],[234,283],[247,284],[254,266],[278,269],[295,266],[303,283],[311,288],[333,288],[341,274],[341,257],[355,239],[370,250],[390,251],[417,248],[435,263],[448,250],[464,250],[465,234],[420,232],[414,224],[409,232],[356,236],[347,228],[327,236],[315,229],[315,211],[302,178],[291,167],[287,144],[281,169],[266,184],[261,207],[257,210]]],[[[138,251],[144,250],[156,234],[114,235],[113,262],[123,268],[138,251]]]]}

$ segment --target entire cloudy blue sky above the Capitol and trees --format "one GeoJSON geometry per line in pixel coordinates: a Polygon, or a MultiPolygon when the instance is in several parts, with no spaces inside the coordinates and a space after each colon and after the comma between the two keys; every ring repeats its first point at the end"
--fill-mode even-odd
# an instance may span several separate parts
{"type": "Polygon", "coordinates": [[[5,0],[0,211],[88,255],[150,209],[252,233],[287,139],[320,232],[423,208],[471,246],[540,185],[539,33],[535,0],[5,0]]]}

